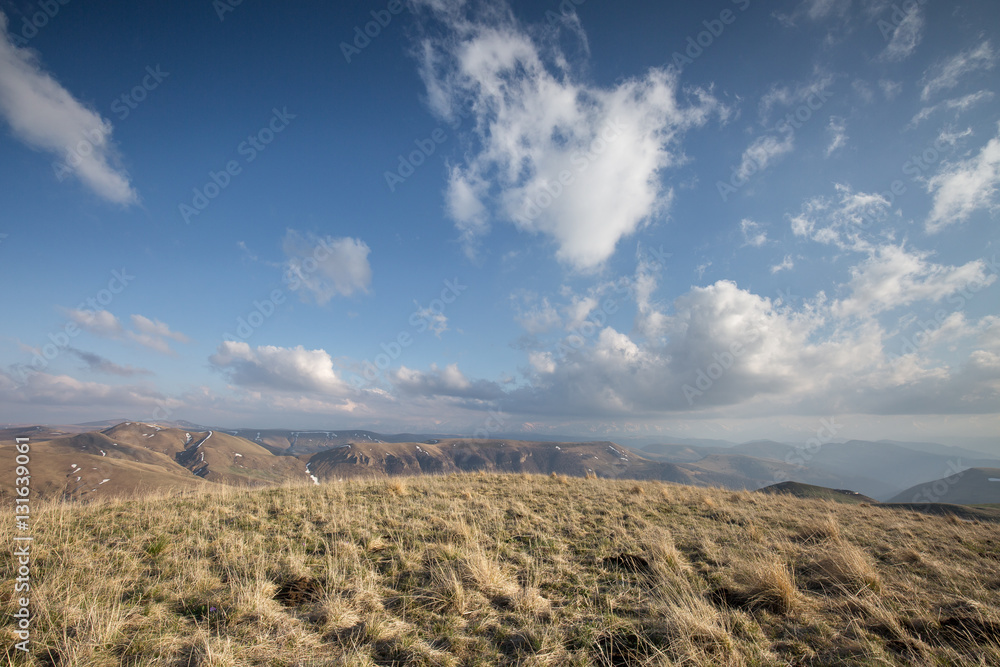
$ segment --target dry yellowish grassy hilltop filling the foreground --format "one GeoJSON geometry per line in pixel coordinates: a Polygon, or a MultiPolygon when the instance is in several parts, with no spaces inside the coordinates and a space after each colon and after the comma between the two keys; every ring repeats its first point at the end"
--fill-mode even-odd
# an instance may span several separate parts
{"type": "Polygon", "coordinates": [[[1000,664],[1000,525],[865,504],[460,474],[39,502],[32,524],[16,664],[1000,664]]]}

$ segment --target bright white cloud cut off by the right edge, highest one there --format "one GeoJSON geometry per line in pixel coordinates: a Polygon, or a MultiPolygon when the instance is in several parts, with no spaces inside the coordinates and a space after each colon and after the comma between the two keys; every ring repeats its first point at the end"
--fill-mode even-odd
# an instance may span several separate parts
{"type": "Polygon", "coordinates": [[[979,154],[945,165],[927,182],[934,204],[925,229],[936,234],[945,227],[965,222],[974,212],[996,206],[1000,184],[1000,134],[990,139],[979,154]]]}

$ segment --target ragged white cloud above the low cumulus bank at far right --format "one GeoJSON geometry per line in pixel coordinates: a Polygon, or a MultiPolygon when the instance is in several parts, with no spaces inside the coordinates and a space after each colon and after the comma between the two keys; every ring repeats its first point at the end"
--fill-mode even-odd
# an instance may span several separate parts
{"type": "Polygon", "coordinates": [[[988,285],[983,260],[962,266],[928,261],[929,252],[907,251],[902,246],[879,247],[861,264],[851,268],[850,296],[831,305],[838,317],[874,315],[918,301],[937,302],[970,284],[988,285]]]}

